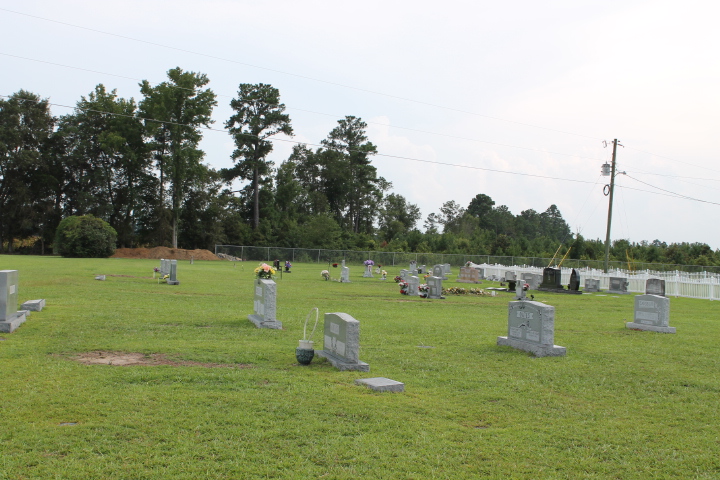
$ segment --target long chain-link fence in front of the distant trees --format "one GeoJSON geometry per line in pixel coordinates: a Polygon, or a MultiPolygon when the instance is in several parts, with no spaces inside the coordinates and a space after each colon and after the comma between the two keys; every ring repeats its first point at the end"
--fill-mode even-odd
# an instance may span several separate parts
{"type": "MultiPolygon", "coordinates": [[[[340,263],[343,259],[349,265],[362,265],[367,259],[372,259],[376,265],[407,266],[411,261],[418,265],[436,265],[449,263],[451,266],[460,267],[467,262],[489,265],[505,266],[527,266],[547,267],[550,265],[550,258],[540,257],[513,257],[493,255],[462,255],[446,253],[407,253],[407,252],[378,252],[359,250],[322,250],[317,248],[281,248],[281,247],[252,247],[241,245],[215,245],[215,254],[221,258],[236,261],[272,262],[273,260],[286,260],[299,263],[340,263]]],[[[575,260],[565,259],[563,267],[568,268],[593,268],[602,270],[605,266],[604,260],[575,260]]],[[[633,271],[657,271],[657,272],[708,272],[720,273],[720,267],[701,265],[671,265],[665,263],[641,263],[641,262],[619,262],[609,263],[611,270],[633,271]]]]}

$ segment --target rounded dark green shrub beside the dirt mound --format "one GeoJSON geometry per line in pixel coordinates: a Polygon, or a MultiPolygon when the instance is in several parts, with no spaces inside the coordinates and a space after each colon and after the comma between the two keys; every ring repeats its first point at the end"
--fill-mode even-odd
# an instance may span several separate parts
{"type": "Polygon", "coordinates": [[[92,215],[64,218],[55,233],[58,253],[63,257],[107,258],[115,253],[116,240],[115,229],[92,215]]]}

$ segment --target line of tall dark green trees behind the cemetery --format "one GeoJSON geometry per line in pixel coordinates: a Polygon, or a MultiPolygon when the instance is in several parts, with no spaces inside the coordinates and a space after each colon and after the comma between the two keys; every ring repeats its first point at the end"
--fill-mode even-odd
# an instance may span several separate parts
{"type": "MultiPolygon", "coordinates": [[[[180,68],[141,98],[100,84],[74,110],[54,117],[26,91],[0,99],[0,245],[43,253],[59,222],[92,214],[119,247],[215,244],[602,259],[600,240],[572,235],[555,205],[515,215],[478,194],[428,215],[392,191],[371,158],[362,119],[347,116],[311,149],[297,145],[275,166],[273,136],[293,135],[279,91],[240,84],[223,127],[233,167],[213,169],[199,148],[213,124],[208,78],[180,68]],[[235,182],[244,187],[232,190],[235,182]],[[26,240],[26,241],[22,241],[26,240]],[[561,246],[562,245],[562,246],[561,246]]],[[[217,128],[217,127],[214,127],[217,128]]],[[[705,244],[614,242],[613,260],[720,264],[705,244]]]]}

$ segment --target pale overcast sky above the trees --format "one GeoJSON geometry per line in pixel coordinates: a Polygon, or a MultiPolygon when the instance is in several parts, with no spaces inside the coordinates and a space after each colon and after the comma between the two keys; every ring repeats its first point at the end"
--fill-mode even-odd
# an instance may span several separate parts
{"type": "MultiPolygon", "coordinates": [[[[99,83],[139,100],[139,81],[179,66],[209,77],[222,129],[238,84],[272,84],[293,141],[365,120],[378,175],[423,220],[484,193],[516,215],[555,204],[603,241],[603,141],[618,138],[612,238],[717,249],[718,18],[693,0],[0,0],[0,95],[32,91],[60,116],[99,83]]],[[[231,165],[227,134],[202,148],[231,165]]]]}

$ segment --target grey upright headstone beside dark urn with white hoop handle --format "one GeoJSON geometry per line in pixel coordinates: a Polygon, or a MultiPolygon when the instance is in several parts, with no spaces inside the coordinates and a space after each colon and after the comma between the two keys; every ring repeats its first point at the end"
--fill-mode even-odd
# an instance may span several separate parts
{"type": "Polygon", "coordinates": [[[369,372],[370,365],[360,361],[360,322],[347,313],[326,313],[323,349],[315,353],[327,358],[338,370],[369,372]]]}

